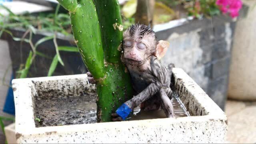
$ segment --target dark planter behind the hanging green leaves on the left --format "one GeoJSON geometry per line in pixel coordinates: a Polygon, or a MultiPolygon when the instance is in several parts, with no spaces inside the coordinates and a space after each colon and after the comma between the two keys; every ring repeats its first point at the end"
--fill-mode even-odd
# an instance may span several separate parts
{"type": "MultiPolygon", "coordinates": [[[[22,38],[25,30],[15,29],[10,30],[14,37],[22,38]]],[[[45,36],[51,36],[52,33],[44,33],[37,32],[37,34],[33,34],[32,42],[35,44],[38,40],[45,36]]],[[[29,34],[27,34],[26,38],[28,38],[29,34]]],[[[28,58],[28,54],[30,52],[31,47],[30,44],[26,42],[20,42],[13,40],[10,34],[4,32],[2,34],[1,39],[6,40],[9,44],[10,48],[10,57],[12,60],[12,69],[14,72],[14,78],[16,78],[16,71],[20,69],[20,64],[25,64],[26,59],[28,58]]],[[[74,44],[73,38],[65,37],[61,34],[57,34],[57,44],[58,46],[76,46],[74,44]]],[[[53,40],[48,40],[43,42],[37,47],[37,51],[46,54],[47,56],[53,58],[56,54],[56,50],[54,47],[53,40]]],[[[70,75],[70,74],[82,74],[86,73],[87,69],[82,62],[82,58],[78,52],[64,52],[60,51],[60,56],[64,62],[65,66],[62,66],[58,63],[56,70],[53,76],[59,75],[70,75]]],[[[45,58],[42,56],[36,56],[33,61],[33,64],[30,67],[28,72],[28,78],[32,77],[42,77],[47,76],[48,70],[50,68],[50,64],[52,63],[52,59],[45,58]]]]}

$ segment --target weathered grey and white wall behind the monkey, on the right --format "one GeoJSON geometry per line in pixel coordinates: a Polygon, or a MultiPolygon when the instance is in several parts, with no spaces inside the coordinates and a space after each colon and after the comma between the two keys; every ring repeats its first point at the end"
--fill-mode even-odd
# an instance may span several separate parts
{"type": "Polygon", "coordinates": [[[170,42],[162,63],[182,68],[222,109],[235,23],[227,16],[216,16],[156,32],[159,40],[170,42]]]}

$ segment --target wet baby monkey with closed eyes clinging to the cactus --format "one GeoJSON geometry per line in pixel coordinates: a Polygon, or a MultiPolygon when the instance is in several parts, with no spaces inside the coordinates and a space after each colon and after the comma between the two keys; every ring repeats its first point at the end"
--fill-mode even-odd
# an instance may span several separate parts
{"type": "MultiPolygon", "coordinates": [[[[140,104],[146,111],[162,107],[168,118],[174,118],[170,100],[171,73],[159,61],[166,53],[169,42],[157,42],[154,31],[144,24],[130,26],[123,35],[121,60],[130,72],[137,95],[122,104],[116,113],[112,114],[112,120],[125,120],[140,104]]],[[[90,72],[87,74],[89,81],[95,83],[90,72]]]]}

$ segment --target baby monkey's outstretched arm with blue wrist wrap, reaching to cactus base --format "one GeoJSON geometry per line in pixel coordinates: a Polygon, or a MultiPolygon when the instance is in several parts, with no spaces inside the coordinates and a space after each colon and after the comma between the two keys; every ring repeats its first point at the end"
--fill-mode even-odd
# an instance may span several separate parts
{"type": "MultiPolygon", "coordinates": [[[[122,118],[122,120],[125,120],[127,116],[132,112],[132,110],[140,105],[145,100],[148,100],[151,96],[156,94],[161,88],[162,84],[160,82],[152,82],[147,88],[145,88],[142,92],[140,92],[138,95],[134,96],[132,99],[126,101],[122,106],[120,106],[116,110],[116,114],[122,118]]],[[[116,114],[113,114],[113,116],[116,116],[116,114]]],[[[120,118],[113,118],[113,121],[120,120],[120,118]]]]}

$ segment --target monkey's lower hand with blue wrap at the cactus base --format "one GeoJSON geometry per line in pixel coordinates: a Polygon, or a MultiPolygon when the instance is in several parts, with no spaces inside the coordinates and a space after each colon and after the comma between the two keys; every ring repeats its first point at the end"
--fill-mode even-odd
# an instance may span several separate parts
{"type": "Polygon", "coordinates": [[[125,120],[129,114],[132,112],[132,108],[130,108],[126,103],[122,104],[117,110],[116,113],[112,114],[112,121],[122,121],[125,120]]]}

